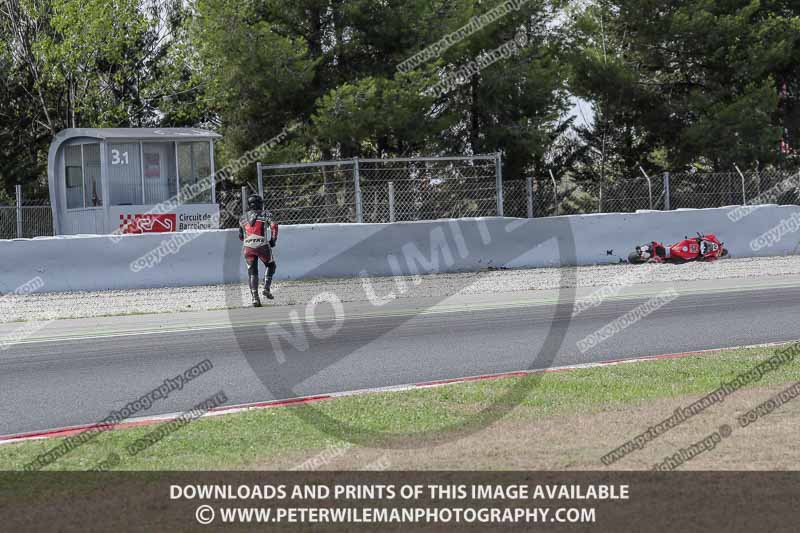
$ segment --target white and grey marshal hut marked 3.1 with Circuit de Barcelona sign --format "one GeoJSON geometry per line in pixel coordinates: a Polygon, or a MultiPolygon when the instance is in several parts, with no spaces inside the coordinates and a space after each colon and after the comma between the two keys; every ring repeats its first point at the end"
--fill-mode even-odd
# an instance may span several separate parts
{"type": "Polygon", "coordinates": [[[217,229],[213,176],[219,138],[193,128],[59,132],[47,161],[54,233],[217,229]]]}

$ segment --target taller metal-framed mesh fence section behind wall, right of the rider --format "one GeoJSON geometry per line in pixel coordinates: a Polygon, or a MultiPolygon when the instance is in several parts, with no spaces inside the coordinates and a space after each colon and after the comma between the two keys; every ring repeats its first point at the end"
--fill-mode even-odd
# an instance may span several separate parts
{"type": "Polygon", "coordinates": [[[499,154],[257,166],[283,224],[399,222],[503,215],[499,154]]]}

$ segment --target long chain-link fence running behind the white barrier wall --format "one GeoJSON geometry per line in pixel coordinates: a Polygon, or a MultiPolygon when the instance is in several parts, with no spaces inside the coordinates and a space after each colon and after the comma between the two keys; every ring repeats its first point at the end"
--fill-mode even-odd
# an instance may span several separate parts
{"type": "MultiPolygon", "coordinates": [[[[575,183],[506,179],[497,155],[259,165],[260,184],[217,188],[220,227],[236,228],[243,198],[262,192],[281,224],[549,217],[734,205],[800,205],[800,172],[667,173],[575,183]],[[502,184],[502,209],[498,207],[502,184]]],[[[0,204],[0,239],[53,235],[49,199],[0,204]]]]}

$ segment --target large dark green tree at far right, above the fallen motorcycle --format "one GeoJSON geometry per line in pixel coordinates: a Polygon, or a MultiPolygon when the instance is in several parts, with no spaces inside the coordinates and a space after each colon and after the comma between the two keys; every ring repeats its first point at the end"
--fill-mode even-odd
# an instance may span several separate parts
{"type": "Polygon", "coordinates": [[[779,90],[800,66],[792,2],[602,0],[575,40],[571,87],[597,109],[603,167],[630,172],[657,150],[673,169],[778,160],[779,90]]]}

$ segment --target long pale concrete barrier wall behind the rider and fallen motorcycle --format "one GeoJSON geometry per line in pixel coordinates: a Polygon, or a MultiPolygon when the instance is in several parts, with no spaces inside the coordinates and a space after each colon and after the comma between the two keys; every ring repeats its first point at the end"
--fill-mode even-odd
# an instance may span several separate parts
{"type": "MultiPolygon", "coordinates": [[[[485,218],[397,224],[281,228],[278,279],[474,271],[617,263],[636,244],[716,233],[731,257],[794,253],[800,232],[754,251],[750,243],[800,207],[759,206],[733,222],[734,208],[597,214],[543,219],[485,218]]],[[[794,218],[793,218],[794,216],[794,218]]],[[[785,227],[797,229],[797,224],[785,227]]],[[[263,272],[263,267],[261,268],[263,272]]],[[[153,288],[246,280],[236,230],[64,236],[0,241],[0,293],[153,288]],[[30,284],[36,277],[43,283],[30,284]]]]}

